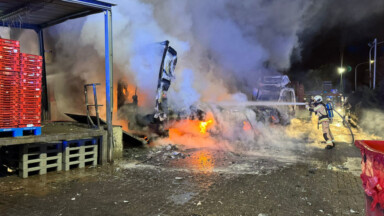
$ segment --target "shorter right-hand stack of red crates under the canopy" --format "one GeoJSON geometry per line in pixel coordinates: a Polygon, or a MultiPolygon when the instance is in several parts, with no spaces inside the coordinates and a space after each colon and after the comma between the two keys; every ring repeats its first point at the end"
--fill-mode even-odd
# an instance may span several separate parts
{"type": "Polygon", "coordinates": [[[19,127],[41,126],[41,73],[43,58],[20,54],[21,92],[19,127]]]}

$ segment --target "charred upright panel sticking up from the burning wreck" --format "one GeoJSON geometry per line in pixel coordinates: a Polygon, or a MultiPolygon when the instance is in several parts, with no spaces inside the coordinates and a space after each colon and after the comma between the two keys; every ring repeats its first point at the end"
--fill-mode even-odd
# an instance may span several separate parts
{"type": "Polygon", "coordinates": [[[156,92],[155,118],[164,121],[167,118],[168,102],[167,93],[171,80],[175,79],[175,67],[177,63],[177,52],[172,47],[168,48],[164,59],[163,70],[156,92]]]}

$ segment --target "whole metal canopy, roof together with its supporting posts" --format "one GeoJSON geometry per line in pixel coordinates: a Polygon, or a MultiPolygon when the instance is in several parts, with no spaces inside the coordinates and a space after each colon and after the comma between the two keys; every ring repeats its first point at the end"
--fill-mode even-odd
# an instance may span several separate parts
{"type": "Polygon", "coordinates": [[[0,26],[33,29],[38,34],[42,70],[42,118],[48,119],[47,76],[45,71],[43,29],[90,14],[104,12],[105,88],[108,161],[112,161],[113,43],[112,6],[97,0],[0,0],[0,26]]]}

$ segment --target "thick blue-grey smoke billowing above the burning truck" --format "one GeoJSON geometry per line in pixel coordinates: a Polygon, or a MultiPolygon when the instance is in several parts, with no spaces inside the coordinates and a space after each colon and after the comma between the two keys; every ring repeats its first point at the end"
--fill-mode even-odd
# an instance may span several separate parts
{"type": "MultiPolygon", "coordinates": [[[[283,5],[277,1],[239,4],[229,0],[115,3],[117,76],[130,77],[130,83],[146,93],[144,104],[153,105],[160,65],[160,55],[153,44],[169,40],[179,57],[170,101],[185,107],[199,100],[231,100],[239,92],[248,94],[261,76],[288,69],[292,50],[298,46],[301,16],[307,8],[306,1],[283,5]],[[277,12],[279,17],[274,16],[277,12]]],[[[80,41],[75,49],[69,47],[71,51],[94,49],[99,56],[97,61],[102,61],[102,21],[101,15],[82,20],[80,41]]],[[[89,73],[100,72],[94,64],[86,66],[92,71],[89,73]]]]}

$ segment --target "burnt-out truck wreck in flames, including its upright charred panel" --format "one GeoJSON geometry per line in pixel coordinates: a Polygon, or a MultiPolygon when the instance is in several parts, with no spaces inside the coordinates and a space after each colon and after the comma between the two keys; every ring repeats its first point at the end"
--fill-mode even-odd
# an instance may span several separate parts
{"type": "Polygon", "coordinates": [[[127,86],[124,82],[118,84],[118,106],[121,113],[119,116],[129,122],[128,128],[131,134],[146,141],[156,137],[185,134],[188,130],[201,134],[210,130],[211,135],[223,136],[228,134],[227,127],[251,131],[257,123],[280,125],[290,123],[295,112],[296,99],[294,90],[288,87],[290,83],[288,76],[265,76],[263,82],[258,83],[254,90],[253,101],[241,107],[238,107],[238,104],[235,104],[236,107],[228,107],[220,103],[204,102],[185,107],[183,110],[168,107],[167,91],[171,81],[175,79],[177,52],[169,46],[168,41],[159,44],[164,49],[154,110],[147,114],[140,112],[142,109],[138,109],[140,99],[137,96],[137,89],[132,96],[132,102],[126,103],[127,86]],[[282,106],[280,103],[284,102],[287,105],[282,106]],[[183,127],[179,127],[180,125],[183,127]]]}

